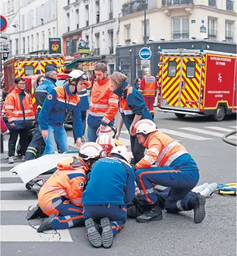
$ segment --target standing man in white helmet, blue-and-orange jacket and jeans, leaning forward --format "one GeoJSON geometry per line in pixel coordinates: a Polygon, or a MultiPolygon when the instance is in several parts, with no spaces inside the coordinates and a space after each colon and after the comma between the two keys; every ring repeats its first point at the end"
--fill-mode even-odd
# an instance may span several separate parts
{"type": "Polygon", "coordinates": [[[80,97],[77,95],[82,89],[87,75],[83,71],[73,70],[67,77],[68,84],[56,87],[50,91],[39,113],[39,129],[45,139],[43,155],[55,152],[55,134],[57,135],[60,152],[67,152],[67,134],[63,123],[72,115],[73,127],[77,137],[77,147],[82,144],[82,114],[80,112],[80,97]]]}

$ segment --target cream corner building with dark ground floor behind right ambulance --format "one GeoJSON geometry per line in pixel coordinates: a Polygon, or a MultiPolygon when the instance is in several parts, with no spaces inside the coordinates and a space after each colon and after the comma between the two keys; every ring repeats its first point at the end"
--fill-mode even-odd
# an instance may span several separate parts
{"type": "Polygon", "coordinates": [[[128,81],[143,76],[150,67],[158,74],[158,49],[209,49],[236,53],[236,2],[231,0],[136,0],[123,2],[116,67],[128,81]],[[145,5],[146,2],[146,5],[145,5]],[[147,46],[152,55],[144,64],[146,8],[147,46]]]}

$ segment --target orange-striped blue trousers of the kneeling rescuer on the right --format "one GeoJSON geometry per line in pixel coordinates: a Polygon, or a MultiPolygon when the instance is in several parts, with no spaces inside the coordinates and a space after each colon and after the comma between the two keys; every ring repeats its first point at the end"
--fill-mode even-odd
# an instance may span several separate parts
{"type": "Polygon", "coordinates": [[[188,201],[197,196],[197,193],[191,190],[198,183],[198,171],[178,171],[172,167],[152,167],[138,169],[135,172],[135,178],[141,194],[148,204],[157,202],[153,184],[171,188],[165,201],[165,210],[168,212],[191,210],[188,207],[188,201]]]}

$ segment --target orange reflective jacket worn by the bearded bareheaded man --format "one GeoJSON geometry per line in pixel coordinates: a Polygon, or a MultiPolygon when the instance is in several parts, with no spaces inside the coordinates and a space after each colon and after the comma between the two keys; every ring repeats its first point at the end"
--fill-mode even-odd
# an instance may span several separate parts
{"type": "Polygon", "coordinates": [[[118,112],[118,97],[113,93],[110,77],[96,81],[92,87],[88,124],[109,124],[118,112]]]}

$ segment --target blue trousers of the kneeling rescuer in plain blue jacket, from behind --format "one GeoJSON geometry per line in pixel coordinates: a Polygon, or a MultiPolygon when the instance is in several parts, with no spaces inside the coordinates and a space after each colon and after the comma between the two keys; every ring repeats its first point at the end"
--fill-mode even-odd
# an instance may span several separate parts
{"type": "Polygon", "coordinates": [[[100,224],[102,218],[109,218],[114,236],[120,231],[127,220],[126,205],[84,205],[84,218],[92,218],[100,224]]]}

